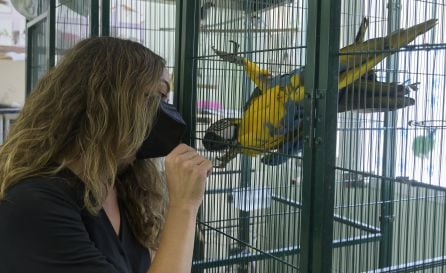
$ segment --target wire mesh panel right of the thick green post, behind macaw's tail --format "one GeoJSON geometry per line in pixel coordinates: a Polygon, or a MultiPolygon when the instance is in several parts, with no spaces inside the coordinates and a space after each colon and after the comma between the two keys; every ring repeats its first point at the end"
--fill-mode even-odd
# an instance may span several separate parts
{"type": "Polygon", "coordinates": [[[333,272],[446,270],[444,12],[343,1],[333,272]]]}

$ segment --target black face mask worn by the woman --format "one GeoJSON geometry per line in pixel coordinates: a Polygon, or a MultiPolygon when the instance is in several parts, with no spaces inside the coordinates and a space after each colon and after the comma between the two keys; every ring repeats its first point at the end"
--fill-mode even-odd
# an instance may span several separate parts
{"type": "Polygon", "coordinates": [[[152,131],[136,152],[136,158],[166,156],[181,143],[185,130],[186,122],[175,106],[161,101],[152,131]]]}

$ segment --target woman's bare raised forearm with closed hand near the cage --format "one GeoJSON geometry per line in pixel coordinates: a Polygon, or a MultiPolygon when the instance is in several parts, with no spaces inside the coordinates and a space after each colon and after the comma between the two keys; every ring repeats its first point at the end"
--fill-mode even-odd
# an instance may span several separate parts
{"type": "Polygon", "coordinates": [[[192,267],[195,221],[212,164],[180,144],[167,157],[169,207],[149,273],[187,273],[192,267]]]}

